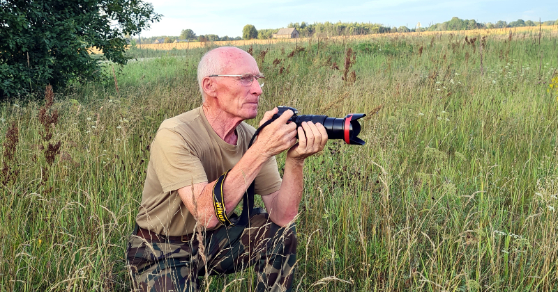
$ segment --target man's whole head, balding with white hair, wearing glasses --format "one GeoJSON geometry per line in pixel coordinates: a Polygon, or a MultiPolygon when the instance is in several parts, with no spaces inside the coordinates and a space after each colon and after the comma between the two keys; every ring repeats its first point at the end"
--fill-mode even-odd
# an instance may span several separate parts
{"type": "Polygon", "coordinates": [[[246,51],[219,47],[207,52],[197,67],[197,81],[204,104],[242,120],[256,117],[259,95],[262,94],[256,79],[245,85],[246,80],[241,81],[239,76],[211,76],[247,73],[262,76],[256,60],[246,51]]]}

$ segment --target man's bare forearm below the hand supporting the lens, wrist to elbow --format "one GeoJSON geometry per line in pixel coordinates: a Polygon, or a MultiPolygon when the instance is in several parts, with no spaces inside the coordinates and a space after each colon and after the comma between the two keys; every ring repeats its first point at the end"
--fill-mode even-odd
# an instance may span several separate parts
{"type": "Polygon", "coordinates": [[[288,159],[285,161],[285,172],[278,195],[271,204],[270,219],[279,226],[286,226],[299,213],[304,185],[303,161],[288,159]]]}

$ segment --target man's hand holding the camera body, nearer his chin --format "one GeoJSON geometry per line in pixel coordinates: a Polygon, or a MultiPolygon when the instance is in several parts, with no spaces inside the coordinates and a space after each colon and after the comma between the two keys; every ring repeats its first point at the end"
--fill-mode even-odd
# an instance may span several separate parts
{"type": "MultiPolygon", "coordinates": [[[[259,126],[271,120],[271,117],[278,113],[278,111],[278,108],[266,111],[264,118],[259,122],[259,126]]],[[[296,134],[298,133],[296,131],[296,124],[294,122],[287,124],[287,120],[292,115],[294,113],[291,110],[285,111],[277,120],[271,122],[271,124],[268,124],[259,132],[254,146],[260,149],[264,156],[276,156],[296,144],[296,134]]]]}

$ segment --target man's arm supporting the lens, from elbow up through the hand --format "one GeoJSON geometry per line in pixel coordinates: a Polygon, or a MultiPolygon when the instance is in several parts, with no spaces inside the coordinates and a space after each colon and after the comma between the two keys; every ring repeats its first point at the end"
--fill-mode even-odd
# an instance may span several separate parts
{"type": "Polygon", "coordinates": [[[287,152],[281,188],[275,193],[262,196],[270,220],[281,227],[287,226],[299,213],[304,184],[304,161],[308,156],[322,151],[328,140],[322,124],[303,122],[298,132],[299,143],[287,152]]]}

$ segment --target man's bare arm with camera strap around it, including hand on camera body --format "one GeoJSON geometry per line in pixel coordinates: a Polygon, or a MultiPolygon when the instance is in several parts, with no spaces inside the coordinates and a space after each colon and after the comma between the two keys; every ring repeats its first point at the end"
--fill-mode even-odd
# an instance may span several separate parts
{"type": "MultiPolygon", "coordinates": [[[[277,109],[268,111],[260,124],[277,113],[277,109]]],[[[296,143],[296,125],[287,124],[292,111],[286,111],[276,121],[265,127],[258,135],[254,145],[242,156],[240,161],[229,171],[223,182],[225,211],[231,214],[242,199],[244,193],[257,177],[262,166],[271,156],[280,154],[296,143]]],[[[289,150],[290,151],[290,150],[289,150]]],[[[211,229],[219,224],[213,209],[213,186],[216,181],[199,183],[180,188],[178,193],[186,208],[199,224],[211,229]]]]}

